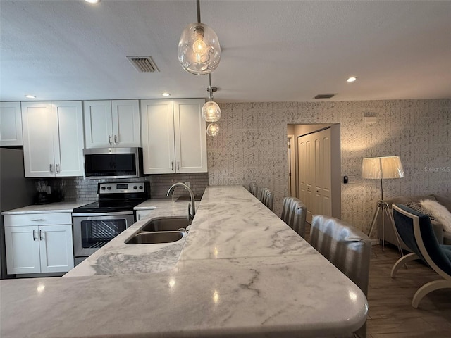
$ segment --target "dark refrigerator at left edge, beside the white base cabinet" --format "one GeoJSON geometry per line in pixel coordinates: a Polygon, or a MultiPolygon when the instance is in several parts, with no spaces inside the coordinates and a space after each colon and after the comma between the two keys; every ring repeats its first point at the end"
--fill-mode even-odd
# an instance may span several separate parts
{"type": "MultiPolygon", "coordinates": [[[[33,204],[35,187],[32,179],[25,178],[23,150],[0,148],[0,212],[33,204]]],[[[6,274],[5,231],[3,216],[0,218],[1,279],[6,274]]]]}

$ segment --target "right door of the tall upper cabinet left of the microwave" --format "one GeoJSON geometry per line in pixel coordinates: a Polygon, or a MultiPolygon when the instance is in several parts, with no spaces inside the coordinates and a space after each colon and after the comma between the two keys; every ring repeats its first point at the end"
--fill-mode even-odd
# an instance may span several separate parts
{"type": "Polygon", "coordinates": [[[83,115],[81,101],[54,102],[56,176],[83,176],[83,115]]]}

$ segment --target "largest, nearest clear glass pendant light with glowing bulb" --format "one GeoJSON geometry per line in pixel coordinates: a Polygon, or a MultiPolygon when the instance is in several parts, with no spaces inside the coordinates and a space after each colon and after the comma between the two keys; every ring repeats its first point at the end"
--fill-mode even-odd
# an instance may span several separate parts
{"type": "Polygon", "coordinates": [[[221,61],[218,35],[211,27],[200,22],[200,0],[197,4],[197,23],[190,23],[183,30],[178,42],[178,61],[188,73],[206,75],[221,61]]]}

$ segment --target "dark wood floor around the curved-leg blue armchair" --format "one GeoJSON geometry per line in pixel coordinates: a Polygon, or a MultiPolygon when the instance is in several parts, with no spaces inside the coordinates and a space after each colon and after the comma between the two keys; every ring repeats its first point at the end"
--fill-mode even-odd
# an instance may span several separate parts
{"type": "Polygon", "coordinates": [[[401,268],[395,278],[390,270],[399,258],[395,246],[372,246],[369,276],[369,316],[367,336],[451,337],[451,289],[428,294],[412,308],[412,298],[419,287],[440,276],[419,261],[401,268]]]}

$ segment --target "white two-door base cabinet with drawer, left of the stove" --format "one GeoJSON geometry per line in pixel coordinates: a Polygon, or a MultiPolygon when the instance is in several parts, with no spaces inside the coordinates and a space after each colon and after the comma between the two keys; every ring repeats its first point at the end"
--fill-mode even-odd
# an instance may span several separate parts
{"type": "Polygon", "coordinates": [[[8,274],[62,273],[73,268],[70,213],[4,215],[8,274]]]}

